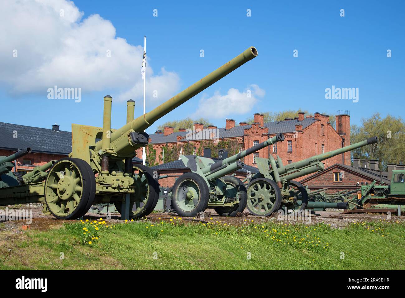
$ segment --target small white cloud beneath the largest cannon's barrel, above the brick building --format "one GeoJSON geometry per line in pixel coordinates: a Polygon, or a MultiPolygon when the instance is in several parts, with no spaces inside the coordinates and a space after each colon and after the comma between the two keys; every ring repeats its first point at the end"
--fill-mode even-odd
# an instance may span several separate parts
{"type": "Polygon", "coordinates": [[[193,117],[207,117],[210,119],[227,117],[230,109],[232,109],[232,114],[242,115],[251,111],[258,101],[258,97],[263,97],[265,93],[263,89],[254,84],[249,85],[243,92],[231,88],[227,94],[221,95],[217,90],[211,97],[203,95],[193,117]]]}

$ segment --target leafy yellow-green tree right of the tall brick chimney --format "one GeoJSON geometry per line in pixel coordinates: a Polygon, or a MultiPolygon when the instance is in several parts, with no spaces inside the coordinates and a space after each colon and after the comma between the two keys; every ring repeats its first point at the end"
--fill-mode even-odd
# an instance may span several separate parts
{"type": "Polygon", "coordinates": [[[405,162],[405,123],[401,117],[387,115],[382,118],[375,113],[370,118],[362,118],[361,126],[351,127],[352,144],[373,136],[377,136],[378,144],[353,150],[353,158],[379,160],[382,170],[386,169],[387,164],[405,162]]]}

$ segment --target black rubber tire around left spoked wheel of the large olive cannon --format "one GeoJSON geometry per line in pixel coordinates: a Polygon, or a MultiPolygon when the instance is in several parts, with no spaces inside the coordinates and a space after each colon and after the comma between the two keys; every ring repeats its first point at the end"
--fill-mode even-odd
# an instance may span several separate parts
{"type": "MultiPolygon", "coordinates": [[[[92,193],[91,193],[92,192],[92,179],[95,181],[94,174],[92,172],[93,175],[92,176],[89,175],[89,173],[87,171],[88,169],[81,162],[81,159],[70,158],[70,157],[61,158],[60,160],[55,162],[55,164],[52,166],[52,168],[49,170],[49,172],[51,172],[53,170],[53,168],[62,160],[69,160],[70,162],[73,162],[74,164],[76,164],[77,168],[79,169],[79,171],[81,172],[81,175],[83,177],[83,185],[82,185],[83,193],[81,195],[81,199],[78,204],[79,206],[77,206],[77,208],[67,216],[59,216],[59,215],[54,214],[51,211],[51,209],[49,208],[48,202],[46,200],[48,177],[45,180],[45,186],[44,186],[45,204],[47,205],[49,212],[52,213],[52,215],[54,217],[56,217],[57,219],[77,219],[77,218],[81,217],[81,214],[86,209],[89,198],[92,196],[92,193]]],[[[94,200],[94,196],[93,196],[93,200],[94,200]]]]}

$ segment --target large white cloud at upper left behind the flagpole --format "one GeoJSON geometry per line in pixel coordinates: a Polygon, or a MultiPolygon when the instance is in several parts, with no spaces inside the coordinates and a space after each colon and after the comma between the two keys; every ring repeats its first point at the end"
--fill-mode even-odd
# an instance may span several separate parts
{"type": "MultiPolygon", "coordinates": [[[[11,94],[45,95],[58,85],[115,92],[119,100],[143,97],[143,46],[117,37],[111,21],[100,15],[82,19],[83,12],[66,0],[0,0],[0,5],[8,28],[0,30],[0,81],[11,94]]],[[[164,68],[155,75],[148,59],[146,83],[147,97],[160,102],[175,94],[180,79],[164,68]]]]}

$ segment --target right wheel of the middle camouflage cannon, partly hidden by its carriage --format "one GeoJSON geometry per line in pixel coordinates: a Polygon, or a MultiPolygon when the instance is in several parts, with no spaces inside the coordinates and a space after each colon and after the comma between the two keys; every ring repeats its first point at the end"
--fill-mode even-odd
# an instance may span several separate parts
{"type": "Polygon", "coordinates": [[[234,217],[238,212],[242,212],[246,208],[246,187],[240,179],[234,176],[225,176],[223,177],[223,180],[226,183],[225,197],[236,200],[237,194],[239,193],[239,203],[236,203],[233,206],[218,206],[215,207],[214,210],[219,216],[234,217]]]}

